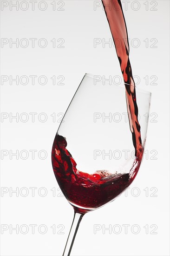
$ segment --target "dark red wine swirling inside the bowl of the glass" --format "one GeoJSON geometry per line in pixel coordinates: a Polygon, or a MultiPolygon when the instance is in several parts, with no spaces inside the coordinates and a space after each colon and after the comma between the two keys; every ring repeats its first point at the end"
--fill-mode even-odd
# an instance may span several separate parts
{"type": "Polygon", "coordinates": [[[136,158],[129,173],[113,175],[102,170],[90,175],[76,168],[77,163],[66,146],[65,138],[57,134],[52,146],[52,167],[63,194],[83,214],[110,202],[127,188],[137,174],[143,155],[136,158]]]}

